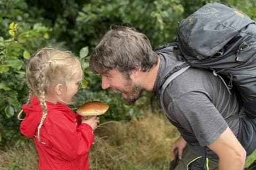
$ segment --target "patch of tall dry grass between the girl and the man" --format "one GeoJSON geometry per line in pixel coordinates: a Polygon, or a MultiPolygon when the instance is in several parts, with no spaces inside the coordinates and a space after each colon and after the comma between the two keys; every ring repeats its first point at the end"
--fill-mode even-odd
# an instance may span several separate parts
{"type": "Polygon", "coordinates": [[[177,130],[165,117],[147,114],[142,120],[107,122],[98,128],[90,154],[91,168],[169,169],[170,148],[177,130]]]}

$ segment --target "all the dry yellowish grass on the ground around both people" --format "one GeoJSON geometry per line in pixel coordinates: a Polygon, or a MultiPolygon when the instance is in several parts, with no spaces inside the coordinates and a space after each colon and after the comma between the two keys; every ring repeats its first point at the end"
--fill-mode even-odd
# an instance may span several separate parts
{"type": "MultiPolygon", "coordinates": [[[[105,122],[95,135],[89,155],[91,170],[169,170],[171,145],[179,133],[163,114],[147,113],[141,120],[105,122]]],[[[246,167],[255,159],[256,152],[246,167]]],[[[38,169],[38,156],[32,140],[20,148],[0,151],[0,170],[34,169],[38,169]]]]}

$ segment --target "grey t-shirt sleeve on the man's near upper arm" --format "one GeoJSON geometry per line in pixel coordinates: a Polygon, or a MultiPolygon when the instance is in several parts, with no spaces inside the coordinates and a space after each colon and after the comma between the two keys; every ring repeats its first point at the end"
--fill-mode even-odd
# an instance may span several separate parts
{"type": "Polygon", "coordinates": [[[228,127],[204,91],[187,92],[168,105],[170,118],[195,136],[200,146],[216,141],[228,127]]]}

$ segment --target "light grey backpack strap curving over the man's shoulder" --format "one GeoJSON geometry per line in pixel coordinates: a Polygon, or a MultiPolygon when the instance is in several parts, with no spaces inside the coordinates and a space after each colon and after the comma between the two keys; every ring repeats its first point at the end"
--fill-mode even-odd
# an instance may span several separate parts
{"type": "Polygon", "coordinates": [[[164,104],[163,104],[163,93],[166,90],[166,87],[170,84],[170,82],[172,80],[174,80],[176,77],[178,77],[179,75],[181,75],[182,73],[184,73],[189,67],[191,67],[190,65],[187,64],[187,62],[183,62],[183,64],[176,66],[176,68],[179,68],[178,70],[172,70],[171,72],[174,71],[174,73],[172,73],[167,79],[166,81],[163,83],[161,90],[160,90],[160,105],[162,107],[162,109],[164,110],[164,112],[167,113],[167,109],[164,108],[164,104]]]}

